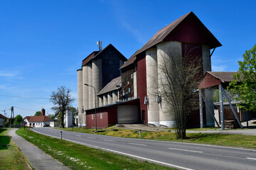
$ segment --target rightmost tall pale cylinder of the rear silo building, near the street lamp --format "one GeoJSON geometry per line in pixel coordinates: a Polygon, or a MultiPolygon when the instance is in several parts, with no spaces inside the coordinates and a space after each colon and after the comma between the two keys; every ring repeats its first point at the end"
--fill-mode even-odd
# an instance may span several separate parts
{"type": "MultiPolygon", "coordinates": [[[[102,60],[92,61],[92,86],[95,87],[96,96],[102,89],[102,60]]],[[[95,91],[92,89],[92,108],[95,108],[95,91]]],[[[96,107],[99,106],[99,99],[96,98],[96,107]]]]}

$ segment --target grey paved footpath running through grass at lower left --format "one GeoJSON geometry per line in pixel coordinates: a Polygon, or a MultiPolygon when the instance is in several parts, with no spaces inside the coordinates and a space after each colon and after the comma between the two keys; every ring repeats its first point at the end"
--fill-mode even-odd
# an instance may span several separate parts
{"type": "Polygon", "coordinates": [[[21,149],[21,152],[25,154],[28,161],[31,163],[34,169],[62,169],[68,170],[67,166],[64,166],[62,163],[58,162],[58,160],[50,157],[48,154],[43,152],[41,149],[38,149],[35,145],[31,144],[16,134],[17,129],[11,129],[9,131],[9,136],[14,140],[16,145],[21,149]]]}

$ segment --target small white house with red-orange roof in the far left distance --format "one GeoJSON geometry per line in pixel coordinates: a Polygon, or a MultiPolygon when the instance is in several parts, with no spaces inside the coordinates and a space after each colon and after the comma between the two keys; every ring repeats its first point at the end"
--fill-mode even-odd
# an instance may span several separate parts
{"type": "Polygon", "coordinates": [[[24,119],[25,127],[43,127],[44,125],[50,125],[50,118],[46,115],[37,115],[37,116],[26,116],[24,119]]]}

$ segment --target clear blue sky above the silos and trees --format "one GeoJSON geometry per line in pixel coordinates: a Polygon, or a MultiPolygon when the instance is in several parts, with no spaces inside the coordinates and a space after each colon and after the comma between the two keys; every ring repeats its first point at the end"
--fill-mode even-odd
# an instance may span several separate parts
{"type": "Polygon", "coordinates": [[[223,45],[213,53],[213,71],[237,71],[242,54],[256,43],[255,6],[255,1],[0,0],[0,113],[11,106],[23,117],[41,108],[53,113],[51,91],[67,86],[77,98],[76,70],[97,50],[97,40],[103,47],[112,43],[128,59],[190,11],[223,45]]]}

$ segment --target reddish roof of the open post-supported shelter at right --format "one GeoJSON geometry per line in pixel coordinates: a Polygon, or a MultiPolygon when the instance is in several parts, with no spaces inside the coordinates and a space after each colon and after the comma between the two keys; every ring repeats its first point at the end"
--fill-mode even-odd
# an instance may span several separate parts
{"type": "Polygon", "coordinates": [[[198,86],[198,89],[206,89],[213,86],[218,86],[220,83],[228,84],[233,81],[233,74],[237,72],[206,72],[203,80],[198,86]]]}

